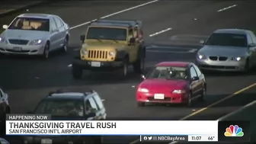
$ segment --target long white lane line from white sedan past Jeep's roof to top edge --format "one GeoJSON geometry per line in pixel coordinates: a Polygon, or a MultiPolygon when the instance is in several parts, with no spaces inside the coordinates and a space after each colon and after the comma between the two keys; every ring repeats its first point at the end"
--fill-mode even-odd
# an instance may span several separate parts
{"type": "MultiPolygon", "coordinates": [[[[124,9],[124,10],[122,10],[122,11],[117,11],[117,12],[115,12],[115,13],[113,13],[113,14],[105,15],[105,16],[101,17],[101,19],[102,19],[102,18],[109,18],[109,17],[114,16],[114,15],[116,15],[116,14],[120,14],[120,13],[123,13],[123,12],[126,12],[126,11],[130,11],[130,10],[133,10],[133,9],[135,9],[135,8],[140,8],[140,7],[142,7],[142,6],[149,5],[149,4],[152,4],[152,3],[155,3],[155,2],[158,2],[158,0],[146,2],[146,3],[142,4],[142,5],[136,5],[136,6],[131,7],[131,8],[126,8],[126,9],[124,9]]],[[[91,21],[96,21],[96,20],[97,20],[97,19],[94,19],[94,20],[91,20],[91,21]]],[[[74,27],[70,27],[69,30],[72,30],[72,29],[77,28],[77,27],[82,27],[82,26],[84,26],[84,25],[86,25],[86,24],[90,24],[91,21],[87,21],[87,22],[85,22],[85,23],[75,25],[74,27]]]]}

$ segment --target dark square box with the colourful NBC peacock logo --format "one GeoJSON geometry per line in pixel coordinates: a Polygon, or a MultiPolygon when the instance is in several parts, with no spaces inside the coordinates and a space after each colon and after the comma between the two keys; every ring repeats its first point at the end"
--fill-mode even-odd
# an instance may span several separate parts
{"type": "Polygon", "coordinates": [[[250,121],[219,121],[219,142],[250,142],[250,121]]]}

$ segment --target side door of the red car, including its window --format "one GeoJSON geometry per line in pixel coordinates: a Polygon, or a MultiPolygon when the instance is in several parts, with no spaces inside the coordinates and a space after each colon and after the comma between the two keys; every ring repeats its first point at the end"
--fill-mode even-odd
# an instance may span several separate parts
{"type": "Polygon", "coordinates": [[[199,87],[199,80],[192,81],[192,78],[197,77],[196,69],[193,66],[190,66],[190,89],[192,91],[192,96],[197,96],[200,91],[199,87]]]}

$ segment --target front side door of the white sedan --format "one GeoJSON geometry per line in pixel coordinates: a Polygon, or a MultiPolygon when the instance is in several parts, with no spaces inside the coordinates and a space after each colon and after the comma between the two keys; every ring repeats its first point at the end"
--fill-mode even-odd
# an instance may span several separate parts
{"type": "Polygon", "coordinates": [[[54,50],[57,47],[58,30],[56,22],[53,18],[50,19],[50,50],[54,50]]]}

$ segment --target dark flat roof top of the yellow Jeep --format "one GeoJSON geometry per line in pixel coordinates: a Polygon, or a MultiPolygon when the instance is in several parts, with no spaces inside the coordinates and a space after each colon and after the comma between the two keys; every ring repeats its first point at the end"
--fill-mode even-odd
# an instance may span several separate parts
{"type": "Polygon", "coordinates": [[[107,20],[100,19],[96,21],[92,21],[91,26],[104,26],[104,27],[134,27],[138,25],[141,27],[142,21],[136,20],[107,20]]]}

